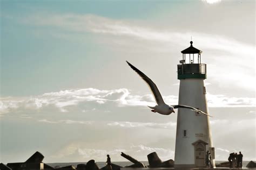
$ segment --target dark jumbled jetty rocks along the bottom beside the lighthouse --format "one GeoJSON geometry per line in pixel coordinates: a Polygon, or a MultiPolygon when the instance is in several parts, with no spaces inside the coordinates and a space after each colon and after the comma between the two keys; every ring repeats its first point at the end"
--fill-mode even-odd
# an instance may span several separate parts
{"type": "MultiPolygon", "coordinates": [[[[161,159],[158,157],[156,152],[152,152],[147,155],[147,159],[149,161],[149,165],[146,166],[142,162],[132,158],[130,155],[127,155],[122,152],[122,157],[126,158],[127,160],[132,162],[132,165],[126,166],[126,168],[173,168],[174,161],[172,159],[161,161],[161,159]]],[[[25,162],[14,162],[14,163],[8,163],[7,165],[4,165],[3,163],[0,164],[0,170],[109,170],[110,166],[104,166],[102,168],[99,168],[95,160],[89,160],[86,164],[78,164],[77,167],[73,165],[69,166],[56,166],[51,167],[48,164],[43,163],[44,155],[40,152],[35,152],[28,160],[25,162]]],[[[216,164],[216,167],[218,169],[227,168],[230,166],[230,162],[221,162],[220,164],[216,164]]],[[[120,170],[122,166],[112,164],[111,163],[112,170],[120,170]]],[[[256,168],[256,163],[254,161],[248,162],[246,165],[246,168],[256,168]]]]}

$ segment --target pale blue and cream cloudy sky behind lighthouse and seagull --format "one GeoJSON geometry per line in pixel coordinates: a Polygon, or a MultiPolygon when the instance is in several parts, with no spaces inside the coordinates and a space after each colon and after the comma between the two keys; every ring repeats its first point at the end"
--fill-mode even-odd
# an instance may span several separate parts
{"type": "Polygon", "coordinates": [[[255,1],[1,0],[0,162],[174,159],[180,51],[207,64],[215,159],[256,160],[255,1]]]}

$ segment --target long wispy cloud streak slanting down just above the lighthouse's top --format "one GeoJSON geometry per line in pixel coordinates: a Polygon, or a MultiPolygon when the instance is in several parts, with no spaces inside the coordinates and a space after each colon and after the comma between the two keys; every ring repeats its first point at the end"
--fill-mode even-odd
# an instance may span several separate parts
{"type": "Polygon", "coordinates": [[[151,41],[179,43],[182,46],[184,45],[184,41],[187,41],[187,37],[193,34],[194,37],[197,37],[197,41],[199,41],[202,48],[222,50],[232,54],[248,54],[253,59],[253,45],[243,44],[234,39],[212,34],[159,31],[151,29],[149,26],[134,24],[131,21],[72,13],[51,16],[35,14],[33,17],[26,18],[26,21],[33,21],[33,24],[40,26],[57,26],[60,29],[74,32],[94,32],[112,34],[113,36],[129,36],[151,41]]]}

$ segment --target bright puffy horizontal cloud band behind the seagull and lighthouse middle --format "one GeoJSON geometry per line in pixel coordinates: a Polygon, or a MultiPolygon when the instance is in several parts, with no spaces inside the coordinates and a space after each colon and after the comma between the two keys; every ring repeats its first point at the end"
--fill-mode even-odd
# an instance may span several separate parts
{"type": "MultiPolygon", "coordinates": [[[[178,97],[169,95],[163,96],[168,104],[177,104],[178,97]]],[[[207,94],[208,107],[255,107],[255,98],[250,97],[229,97],[225,95],[207,94]]],[[[155,105],[154,98],[150,94],[133,95],[128,89],[99,90],[95,88],[85,89],[69,89],[56,92],[45,93],[32,97],[7,97],[0,100],[0,113],[22,112],[22,111],[43,111],[50,109],[51,111],[70,112],[78,110],[80,112],[95,111],[94,104],[110,104],[116,107],[135,107],[146,105],[155,105]],[[79,108],[79,104],[83,106],[91,106],[92,109],[85,110],[79,108]]]]}

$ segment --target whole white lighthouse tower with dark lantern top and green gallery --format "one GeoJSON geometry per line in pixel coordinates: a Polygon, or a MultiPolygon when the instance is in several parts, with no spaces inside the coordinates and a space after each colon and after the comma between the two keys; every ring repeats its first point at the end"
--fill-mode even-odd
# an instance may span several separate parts
{"type": "MultiPolygon", "coordinates": [[[[181,51],[183,59],[178,65],[179,104],[188,105],[208,114],[206,89],[206,64],[201,63],[201,51],[192,46],[181,51]]],[[[205,167],[206,151],[214,162],[214,147],[209,117],[190,109],[178,109],[174,167],[205,167]]]]}

